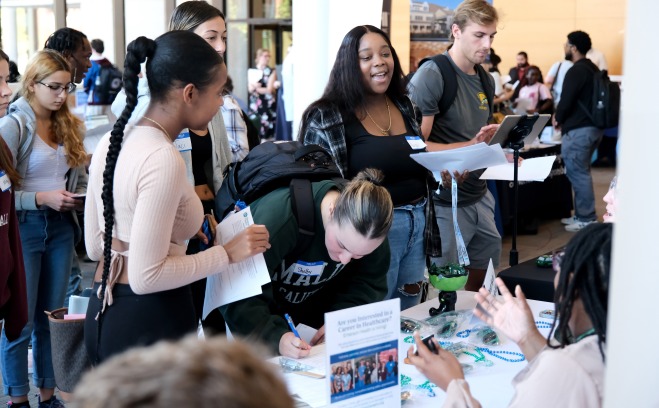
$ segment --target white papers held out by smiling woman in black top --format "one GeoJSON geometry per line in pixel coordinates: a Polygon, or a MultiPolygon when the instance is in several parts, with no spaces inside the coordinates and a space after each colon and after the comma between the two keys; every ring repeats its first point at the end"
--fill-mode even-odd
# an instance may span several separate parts
{"type": "Polygon", "coordinates": [[[464,170],[473,171],[508,162],[501,146],[488,146],[485,143],[439,152],[416,153],[410,157],[430,170],[437,181],[442,179],[442,170],[448,170],[451,174],[454,171],[462,173],[464,170]]]}

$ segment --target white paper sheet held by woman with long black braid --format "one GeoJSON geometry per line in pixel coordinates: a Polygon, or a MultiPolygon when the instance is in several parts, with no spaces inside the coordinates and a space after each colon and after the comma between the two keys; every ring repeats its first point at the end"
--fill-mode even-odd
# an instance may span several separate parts
{"type": "MultiPolygon", "coordinates": [[[[254,224],[249,207],[233,213],[217,226],[219,245],[231,241],[238,233],[254,224]]],[[[270,273],[263,254],[231,264],[227,270],[208,277],[204,299],[204,318],[220,306],[260,295],[261,286],[270,282],[270,273]]]]}

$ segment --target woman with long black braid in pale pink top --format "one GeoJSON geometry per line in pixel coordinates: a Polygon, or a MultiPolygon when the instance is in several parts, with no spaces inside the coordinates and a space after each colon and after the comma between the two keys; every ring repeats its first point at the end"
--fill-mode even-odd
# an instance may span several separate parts
{"type": "Polygon", "coordinates": [[[92,158],[85,207],[87,251],[102,259],[85,322],[96,363],[195,331],[189,284],[270,247],[265,227],[253,225],[224,247],[185,255],[204,214],[173,142],[183,128],[208,124],[222,105],[226,77],[222,57],[187,31],[128,45],[126,107],[92,158]],[[126,126],[145,60],[150,103],[126,126]]]}

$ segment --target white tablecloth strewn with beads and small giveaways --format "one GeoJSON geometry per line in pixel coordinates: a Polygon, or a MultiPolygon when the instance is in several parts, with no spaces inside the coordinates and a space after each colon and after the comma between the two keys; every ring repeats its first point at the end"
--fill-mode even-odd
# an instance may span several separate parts
{"type": "MultiPolygon", "coordinates": [[[[474,299],[474,292],[458,291],[457,293],[458,301],[456,310],[473,309],[475,307],[476,301],[474,299]]],[[[430,316],[428,314],[429,308],[437,307],[438,305],[439,301],[437,299],[432,299],[401,312],[401,316],[411,317],[417,320],[424,320],[430,316]]],[[[546,335],[549,332],[551,320],[540,318],[539,313],[546,309],[553,310],[553,303],[529,300],[529,305],[533,311],[533,315],[541,333],[546,335]]],[[[473,321],[466,321],[458,328],[457,333],[460,333],[465,329],[470,329],[478,324],[482,324],[482,322],[478,321],[478,323],[475,323],[473,321]]],[[[429,384],[426,384],[426,387],[431,387],[433,392],[427,392],[426,388],[418,388],[419,385],[423,385],[426,382],[426,378],[421,373],[419,373],[414,366],[407,365],[403,362],[405,356],[407,355],[407,350],[410,347],[410,344],[405,342],[408,336],[409,335],[401,334],[401,341],[399,343],[399,375],[401,375],[402,379],[401,384],[409,381],[409,385],[407,387],[403,387],[403,389],[410,389],[412,394],[412,398],[406,401],[404,406],[432,408],[441,407],[442,403],[444,402],[444,391],[442,391],[440,388],[430,386],[429,384]],[[430,396],[431,394],[434,394],[434,396],[430,396]]],[[[500,333],[499,339],[500,345],[495,347],[488,347],[488,349],[492,350],[495,354],[500,351],[508,351],[521,354],[517,345],[505,338],[505,336],[500,333]]],[[[409,338],[407,340],[409,341],[409,338]]],[[[463,341],[476,345],[478,344],[478,341],[473,335],[468,338],[460,338],[454,336],[450,339],[438,340],[451,343],[463,341]]],[[[498,355],[505,359],[518,360],[520,358],[520,354],[498,355]]],[[[511,381],[521,369],[526,367],[527,361],[524,360],[521,362],[508,362],[488,353],[484,353],[484,355],[488,360],[492,361],[492,366],[486,367],[482,364],[474,364],[474,358],[470,356],[463,356],[460,358],[461,362],[471,364],[474,367],[471,372],[466,374],[466,379],[469,382],[471,392],[474,397],[476,397],[481,402],[483,407],[505,407],[508,405],[513,396],[513,387],[511,385],[511,381]]],[[[318,393],[322,393],[324,390],[324,379],[314,380],[296,374],[285,374],[284,377],[289,386],[289,390],[293,394],[297,393],[300,395],[302,400],[306,400],[306,397],[312,395],[315,397],[315,401],[318,401],[318,393]]],[[[311,400],[314,400],[314,398],[311,398],[311,400]]],[[[311,402],[311,405],[320,406],[317,402],[311,402]]],[[[304,404],[299,406],[304,406],[304,404]]],[[[394,403],[392,406],[397,405],[394,403]]]]}

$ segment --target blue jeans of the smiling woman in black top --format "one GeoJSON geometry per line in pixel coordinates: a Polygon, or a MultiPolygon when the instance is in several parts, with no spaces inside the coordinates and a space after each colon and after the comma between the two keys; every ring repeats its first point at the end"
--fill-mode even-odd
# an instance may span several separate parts
{"type": "Polygon", "coordinates": [[[394,220],[389,230],[391,262],[387,272],[389,291],[386,299],[400,299],[401,310],[419,303],[421,288],[415,294],[403,290],[406,284],[423,280],[426,254],[423,246],[423,230],[426,226],[425,204],[403,205],[394,208],[394,220]]]}

